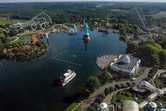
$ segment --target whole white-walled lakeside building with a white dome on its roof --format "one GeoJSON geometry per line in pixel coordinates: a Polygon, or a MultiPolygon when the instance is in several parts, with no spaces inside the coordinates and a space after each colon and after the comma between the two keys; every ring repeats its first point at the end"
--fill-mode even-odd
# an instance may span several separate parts
{"type": "Polygon", "coordinates": [[[136,57],[120,55],[110,64],[110,68],[116,72],[123,71],[126,74],[132,75],[139,67],[140,63],[141,60],[136,57]]]}

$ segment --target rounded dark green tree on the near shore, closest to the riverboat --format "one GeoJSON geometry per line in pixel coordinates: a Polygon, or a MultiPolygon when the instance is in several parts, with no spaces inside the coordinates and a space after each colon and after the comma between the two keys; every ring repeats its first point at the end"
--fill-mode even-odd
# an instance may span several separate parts
{"type": "Polygon", "coordinates": [[[96,89],[98,89],[101,86],[101,83],[97,77],[90,76],[85,86],[89,91],[94,92],[96,89]]]}

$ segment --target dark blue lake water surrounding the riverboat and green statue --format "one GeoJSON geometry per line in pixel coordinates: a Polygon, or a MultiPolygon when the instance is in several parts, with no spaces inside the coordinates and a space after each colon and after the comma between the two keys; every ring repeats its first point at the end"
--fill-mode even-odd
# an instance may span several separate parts
{"type": "Polygon", "coordinates": [[[118,34],[90,31],[91,40],[84,43],[83,33],[50,34],[43,39],[48,53],[30,62],[1,60],[0,111],[64,111],[73,95],[84,89],[86,79],[100,74],[97,56],[125,53],[126,44],[118,34]],[[77,75],[64,88],[58,87],[55,81],[67,69],[77,75]]]}

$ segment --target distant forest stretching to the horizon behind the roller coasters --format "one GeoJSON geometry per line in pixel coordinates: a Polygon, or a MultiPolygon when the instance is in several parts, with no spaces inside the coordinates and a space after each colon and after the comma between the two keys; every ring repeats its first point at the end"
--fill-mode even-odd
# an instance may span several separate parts
{"type": "MultiPolygon", "coordinates": [[[[82,23],[84,18],[99,22],[110,18],[126,19],[128,13],[111,9],[130,10],[134,3],[70,2],[70,3],[6,3],[0,4],[0,15],[11,19],[30,20],[40,12],[46,12],[55,23],[82,23]]],[[[166,11],[166,4],[138,3],[146,15],[166,11]]],[[[93,24],[93,23],[91,23],[93,24]]]]}

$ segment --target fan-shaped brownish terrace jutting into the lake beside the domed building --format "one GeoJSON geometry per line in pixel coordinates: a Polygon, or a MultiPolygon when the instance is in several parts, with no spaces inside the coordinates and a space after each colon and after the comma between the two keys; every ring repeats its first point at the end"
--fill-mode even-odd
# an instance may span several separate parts
{"type": "Polygon", "coordinates": [[[104,69],[106,67],[109,67],[109,64],[114,61],[115,58],[117,58],[117,55],[104,55],[101,57],[96,58],[96,64],[100,69],[104,69]]]}

